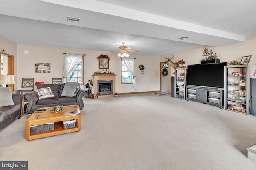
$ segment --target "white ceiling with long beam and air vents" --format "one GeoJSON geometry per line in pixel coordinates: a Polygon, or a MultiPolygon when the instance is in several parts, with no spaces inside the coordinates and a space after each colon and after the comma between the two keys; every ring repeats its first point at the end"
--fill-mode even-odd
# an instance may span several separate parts
{"type": "MultiPolygon", "coordinates": [[[[0,35],[18,44],[162,55],[256,34],[255,0],[0,0],[0,35]],[[80,23],[67,21],[80,18],[80,23]],[[180,37],[189,37],[179,40],[180,37]]],[[[6,51],[8,53],[8,51],[6,51]]]]}

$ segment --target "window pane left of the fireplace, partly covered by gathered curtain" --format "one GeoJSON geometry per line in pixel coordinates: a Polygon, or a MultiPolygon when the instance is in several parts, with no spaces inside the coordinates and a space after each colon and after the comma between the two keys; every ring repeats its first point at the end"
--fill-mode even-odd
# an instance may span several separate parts
{"type": "Polygon", "coordinates": [[[72,72],[68,74],[67,81],[84,84],[84,56],[78,61],[72,72]]]}

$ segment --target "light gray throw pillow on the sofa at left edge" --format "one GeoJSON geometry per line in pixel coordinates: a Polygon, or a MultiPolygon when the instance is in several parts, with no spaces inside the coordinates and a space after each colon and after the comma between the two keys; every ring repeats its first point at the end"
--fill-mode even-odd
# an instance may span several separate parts
{"type": "Polygon", "coordinates": [[[0,107],[14,105],[12,100],[12,88],[2,87],[0,88],[0,107]]]}

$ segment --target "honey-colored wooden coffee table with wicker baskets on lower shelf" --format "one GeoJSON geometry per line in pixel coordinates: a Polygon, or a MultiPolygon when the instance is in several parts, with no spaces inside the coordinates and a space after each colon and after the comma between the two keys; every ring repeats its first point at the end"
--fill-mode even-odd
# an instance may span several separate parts
{"type": "MultiPolygon", "coordinates": [[[[64,111],[55,113],[50,112],[52,107],[44,107],[40,109],[46,109],[43,113],[33,113],[27,120],[25,126],[25,136],[28,141],[32,139],[38,139],[43,137],[49,137],[54,135],[60,135],[70,132],[79,132],[81,129],[81,113],[79,105],[65,106],[64,111]],[[64,129],[63,121],[76,120],[75,127],[64,129]],[[30,126],[41,125],[45,123],[54,123],[54,129],[50,131],[44,131],[40,133],[30,134],[30,126]]],[[[39,109],[37,109],[39,110],[39,109]]]]}

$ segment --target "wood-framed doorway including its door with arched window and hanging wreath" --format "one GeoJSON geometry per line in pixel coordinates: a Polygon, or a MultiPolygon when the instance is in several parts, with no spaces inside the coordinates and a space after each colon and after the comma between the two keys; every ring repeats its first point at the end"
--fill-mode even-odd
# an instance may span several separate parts
{"type": "Polygon", "coordinates": [[[160,63],[160,92],[170,94],[170,64],[168,62],[160,63]]]}

